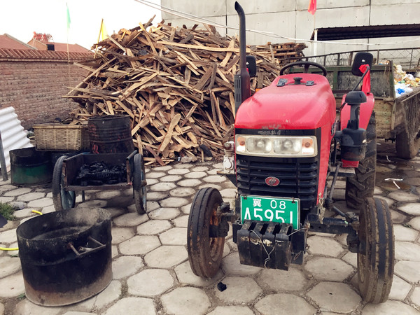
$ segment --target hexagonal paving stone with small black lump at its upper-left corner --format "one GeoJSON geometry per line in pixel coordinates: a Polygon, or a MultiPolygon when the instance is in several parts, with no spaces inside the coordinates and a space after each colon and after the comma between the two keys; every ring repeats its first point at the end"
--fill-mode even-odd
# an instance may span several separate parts
{"type": "Polygon", "coordinates": [[[223,283],[227,286],[226,290],[221,292],[215,287],[214,294],[225,303],[249,303],[262,293],[262,288],[248,277],[228,276],[223,283]]]}

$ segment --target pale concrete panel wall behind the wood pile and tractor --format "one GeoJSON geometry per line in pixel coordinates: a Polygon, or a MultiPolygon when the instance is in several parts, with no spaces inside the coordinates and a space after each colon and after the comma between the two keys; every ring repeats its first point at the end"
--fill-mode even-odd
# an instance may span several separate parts
{"type": "MultiPolygon", "coordinates": [[[[211,21],[238,26],[238,18],[234,8],[235,0],[161,0],[162,6],[208,18],[211,21]]],[[[311,37],[315,28],[347,27],[366,25],[391,25],[419,23],[419,0],[318,0],[315,15],[307,12],[309,0],[264,0],[240,1],[246,13],[246,28],[258,31],[269,31],[279,36],[298,38],[298,42],[311,37]]],[[[195,22],[162,12],[166,22],[174,26],[193,26],[195,22]]],[[[221,34],[235,35],[237,31],[218,27],[221,34]]],[[[279,38],[264,34],[247,32],[247,43],[265,44],[290,42],[287,38],[279,38]]],[[[318,43],[316,55],[349,50],[365,50],[367,45],[352,43],[389,43],[388,45],[370,45],[369,49],[409,48],[420,46],[420,38],[393,37],[358,39],[340,41],[348,45],[318,43]],[[414,41],[413,41],[414,40],[414,41]],[[409,41],[403,43],[403,41],[409,41]]],[[[307,42],[305,55],[313,55],[314,46],[307,42]]]]}

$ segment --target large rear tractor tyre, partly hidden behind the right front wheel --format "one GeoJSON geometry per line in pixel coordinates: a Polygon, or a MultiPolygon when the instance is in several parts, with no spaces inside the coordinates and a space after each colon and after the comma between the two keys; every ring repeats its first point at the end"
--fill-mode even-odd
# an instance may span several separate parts
{"type": "Polygon", "coordinates": [[[376,119],[374,112],[370,116],[366,128],[366,154],[354,170],[356,176],[346,179],[346,203],[348,207],[360,209],[366,197],[373,197],[374,183],[376,178],[376,119]]]}

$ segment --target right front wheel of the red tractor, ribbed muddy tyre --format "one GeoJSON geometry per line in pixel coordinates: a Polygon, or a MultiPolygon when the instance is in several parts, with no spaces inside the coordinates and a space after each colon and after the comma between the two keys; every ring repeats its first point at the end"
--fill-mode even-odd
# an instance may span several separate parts
{"type": "Polygon", "coordinates": [[[388,204],[379,198],[366,198],[359,223],[359,290],[366,302],[385,302],[391,290],[394,267],[393,227],[388,204]]]}

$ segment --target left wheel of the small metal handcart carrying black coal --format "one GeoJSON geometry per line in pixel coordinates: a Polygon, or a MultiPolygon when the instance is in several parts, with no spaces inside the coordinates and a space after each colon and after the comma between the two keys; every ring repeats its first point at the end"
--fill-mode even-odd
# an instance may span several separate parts
{"type": "Polygon", "coordinates": [[[52,172],[52,202],[55,211],[71,209],[76,204],[76,193],[64,190],[63,161],[66,155],[59,157],[52,172]]]}

